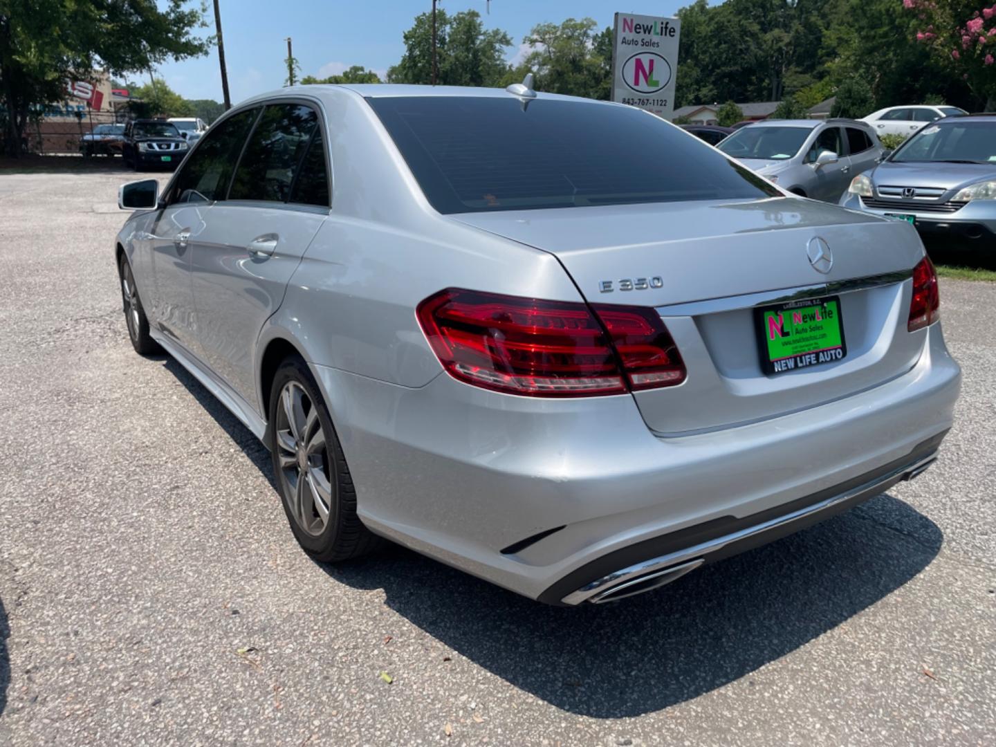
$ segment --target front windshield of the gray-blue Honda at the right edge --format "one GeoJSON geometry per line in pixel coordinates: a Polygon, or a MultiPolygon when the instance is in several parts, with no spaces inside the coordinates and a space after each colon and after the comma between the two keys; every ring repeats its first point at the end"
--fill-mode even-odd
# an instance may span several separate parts
{"type": "Polygon", "coordinates": [[[889,158],[894,163],[996,163],[996,122],[957,119],[928,124],[889,158]]]}

